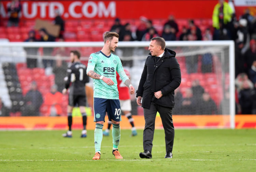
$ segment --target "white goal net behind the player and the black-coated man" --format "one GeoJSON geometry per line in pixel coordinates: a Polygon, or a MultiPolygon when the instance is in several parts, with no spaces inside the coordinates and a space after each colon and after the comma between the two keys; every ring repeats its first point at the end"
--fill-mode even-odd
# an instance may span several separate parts
{"type": "MultiPolygon", "coordinates": [[[[114,54],[130,72],[138,88],[149,42],[119,42],[114,54]]],[[[98,52],[103,42],[0,42],[0,97],[11,115],[31,115],[26,111],[26,95],[35,83],[42,95],[38,101],[39,116],[67,115],[67,96],[61,98],[58,113],[49,108],[47,93],[64,88],[63,78],[70,63],[71,50],[81,52],[87,66],[91,53],[98,52]],[[55,87],[55,86],[57,87],[55,87]],[[53,87],[54,86],[54,87],[53,87]]],[[[166,47],[176,52],[182,81],[175,90],[173,120],[177,127],[234,128],[234,45],[232,41],[174,41],[166,47]],[[190,121],[189,120],[193,120],[190,121]]],[[[93,107],[93,84],[87,84],[88,107],[93,107]]],[[[143,115],[143,109],[131,96],[132,115],[143,115]]],[[[31,101],[31,100],[30,100],[31,101]]],[[[92,111],[93,112],[93,111],[92,111]]]]}

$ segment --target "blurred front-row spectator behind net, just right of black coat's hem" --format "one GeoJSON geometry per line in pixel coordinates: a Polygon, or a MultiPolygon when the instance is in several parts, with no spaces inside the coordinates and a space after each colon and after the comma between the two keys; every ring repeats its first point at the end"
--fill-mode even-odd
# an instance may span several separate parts
{"type": "Polygon", "coordinates": [[[196,101],[193,97],[192,90],[190,88],[186,89],[185,92],[185,97],[182,99],[182,113],[183,115],[195,115],[195,108],[196,106],[196,101]]]}

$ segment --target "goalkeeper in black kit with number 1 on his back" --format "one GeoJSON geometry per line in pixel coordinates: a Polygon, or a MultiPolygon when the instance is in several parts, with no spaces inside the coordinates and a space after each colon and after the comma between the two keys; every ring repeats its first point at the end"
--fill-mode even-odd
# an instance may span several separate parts
{"type": "Polygon", "coordinates": [[[86,121],[87,116],[85,112],[86,96],[85,96],[85,83],[89,82],[89,77],[86,75],[86,66],[80,62],[79,51],[70,52],[71,65],[67,70],[65,77],[65,88],[62,90],[62,94],[67,94],[69,89],[69,104],[68,104],[68,126],[69,130],[67,133],[62,134],[63,137],[72,137],[71,125],[72,125],[72,110],[77,104],[80,108],[80,112],[83,117],[83,131],[81,138],[87,136],[86,132],[86,121]]]}

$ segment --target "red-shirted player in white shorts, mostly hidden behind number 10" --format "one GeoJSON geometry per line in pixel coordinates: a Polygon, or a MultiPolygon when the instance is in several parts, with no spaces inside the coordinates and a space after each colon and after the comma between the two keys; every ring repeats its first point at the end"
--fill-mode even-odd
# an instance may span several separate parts
{"type": "MultiPolygon", "coordinates": [[[[130,79],[130,73],[128,70],[124,69],[125,74],[129,77],[130,79]]],[[[130,124],[131,124],[131,135],[136,136],[137,131],[136,128],[134,127],[134,119],[131,116],[131,99],[129,95],[129,89],[128,87],[122,82],[122,79],[116,74],[116,80],[117,80],[117,88],[119,92],[119,100],[120,100],[120,105],[121,105],[121,110],[124,112],[125,116],[128,118],[130,124]]],[[[108,121],[108,128],[103,131],[103,135],[109,136],[109,130],[111,127],[112,123],[111,121],[108,121]]]]}

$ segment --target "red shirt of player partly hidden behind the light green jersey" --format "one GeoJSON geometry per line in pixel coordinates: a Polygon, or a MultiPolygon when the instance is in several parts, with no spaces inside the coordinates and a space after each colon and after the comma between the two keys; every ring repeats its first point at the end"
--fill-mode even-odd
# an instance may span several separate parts
{"type": "MultiPolygon", "coordinates": [[[[130,77],[130,73],[128,70],[124,69],[125,74],[130,77]]],[[[117,89],[119,92],[120,100],[128,100],[130,99],[129,88],[125,85],[125,83],[121,80],[120,76],[116,72],[116,81],[117,81],[117,89]]]]}

